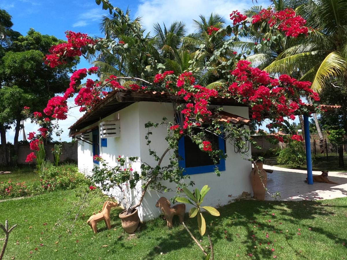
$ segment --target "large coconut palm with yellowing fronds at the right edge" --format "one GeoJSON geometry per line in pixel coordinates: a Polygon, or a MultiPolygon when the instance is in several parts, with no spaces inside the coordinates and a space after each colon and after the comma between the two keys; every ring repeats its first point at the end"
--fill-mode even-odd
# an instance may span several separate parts
{"type": "MultiPolygon", "coordinates": [[[[316,92],[329,81],[347,76],[347,1],[274,0],[273,6],[276,10],[294,8],[307,20],[307,26],[318,30],[306,38],[283,38],[278,46],[263,47],[259,54],[247,59],[272,75],[297,74],[301,80],[310,80],[316,92]]],[[[253,7],[246,13],[251,16],[260,9],[253,7]]],[[[269,36],[261,35],[262,38],[269,36]]],[[[260,35],[253,36],[254,39],[259,40],[260,35]]],[[[247,43],[239,43],[239,46],[246,47],[247,43]]],[[[322,142],[317,116],[313,116],[322,142]]],[[[302,118],[299,119],[302,122],[302,118]]]]}

